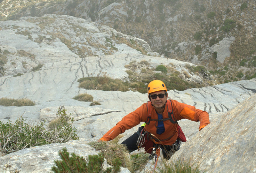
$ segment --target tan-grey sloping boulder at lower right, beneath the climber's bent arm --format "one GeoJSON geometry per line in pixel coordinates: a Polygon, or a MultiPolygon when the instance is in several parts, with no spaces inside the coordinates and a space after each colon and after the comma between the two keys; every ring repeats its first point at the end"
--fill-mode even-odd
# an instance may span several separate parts
{"type": "Polygon", "coordinates": [[[256,172],[256,94],[211,119],[170,159],[195,161],[207,172],[256,172]]]}

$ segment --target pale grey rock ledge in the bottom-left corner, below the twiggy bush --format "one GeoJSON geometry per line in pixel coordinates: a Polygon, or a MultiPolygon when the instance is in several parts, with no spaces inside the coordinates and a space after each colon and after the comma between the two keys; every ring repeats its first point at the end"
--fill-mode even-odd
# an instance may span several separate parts
{"type": "Polygon", "coordinates": [[[0,168],[8,164],[10,172],[20,170],[20,173],[41,173],[51,171],[54,160],[60,160],[59,151],[66,147],[68,152],[86,158],[88,155],[98,154],[98,151],[86,144],[88,140],[71,140],[63,144],[49,144],[26,148],[15,153],[7,154],[0,157],[0,168]]]}

